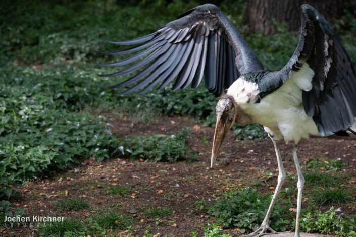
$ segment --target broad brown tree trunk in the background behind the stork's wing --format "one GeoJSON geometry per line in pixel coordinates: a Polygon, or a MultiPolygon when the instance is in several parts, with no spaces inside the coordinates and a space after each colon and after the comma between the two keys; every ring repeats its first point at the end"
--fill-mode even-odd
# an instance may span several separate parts
{"type": "Polygon", "coordinates": [[[274,34],[276,25],[273,19],[280,23],[287,23],[288,31],[300,29],[300,6],[308,3],[315,7],[330,22],[342,16],[343,0],[248,0],[245,23],[256,33],[262,30],[265,35],[274,34]]]}

